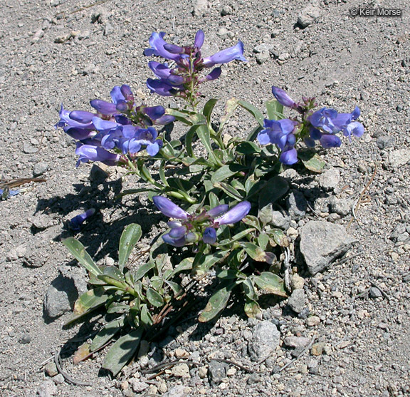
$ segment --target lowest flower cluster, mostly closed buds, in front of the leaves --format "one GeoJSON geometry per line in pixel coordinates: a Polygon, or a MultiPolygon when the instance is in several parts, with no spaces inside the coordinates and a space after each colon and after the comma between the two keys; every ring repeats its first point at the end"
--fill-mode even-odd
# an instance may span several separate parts
{"type": "Polygon", "coordinates": [[[199,241],[215,244],[216,229],[219,226],[239,222],[251,210],[251,203],[243,201],[231,210],[228,210],[228,205],[223,204],[209,211],[203,210],[199,215],[190,215],[165,197],[154,196],[152,200],[164,215],[177,219],[168,222],[167,225],[171,231],[162,236],[164,242],[174,247],[182,247],[199,241]]]}

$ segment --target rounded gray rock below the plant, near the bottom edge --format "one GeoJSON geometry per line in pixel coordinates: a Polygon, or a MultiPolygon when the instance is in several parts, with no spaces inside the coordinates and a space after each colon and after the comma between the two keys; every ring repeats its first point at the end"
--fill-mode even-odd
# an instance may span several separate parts
{"type": "Polygon", "coordinates": [[[253,361],[266,359],[280,343],[280,331],[272,322],[261,321],[253,330],[249,343],[249,355],[253,361]]]}

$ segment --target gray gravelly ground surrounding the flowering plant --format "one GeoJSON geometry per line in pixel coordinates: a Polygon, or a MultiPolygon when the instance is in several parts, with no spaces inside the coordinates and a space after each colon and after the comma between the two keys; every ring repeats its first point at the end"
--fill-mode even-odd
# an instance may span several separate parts
{"type": "MultiPolygon", "coordinates": [[[[359,6],[348,0],[1,1],[1,177],[46,178],[0,202],[1,396],[410,395],[410,9],[404,0],[371,1],[370,9],[402,15],[352,18],[349,10],[359,6]],[[121,170],[109,170],[104,181],[96,167],[76,169],[73,143],[53,125],[60,103],[85,109],[122,83],[149,104],[172,105],[149,96],[144,81],[152,76],[142,51],[152,31],[190,43],[197,29],[206,33],[206,55],[241,39],[249,60],[224,66],[221,78],[204,88],[206,96],[236,96],[262,109],[274,84],[294,98],[362,110],[365,134],[323,154],[325,175],[284,175],[308,204],[298,215],[288,200],[286,228],[296,246],[303,227],[317,220],[342,225],[355,242],[345,259],[314,277],[297,257],[298,293],[267,302],[261,319],[246,319],[233,302],[216,323],[197,325],[195,311],[110,380],[99,371],[102,354],[72,364],[70,348],[92,329],[62,329],[70,316],[64,302],[86,288],[61,244],[70,235],[65,223],[97,208],[79,237],[97,260],[110,262],[125,225],[141,222],[149,232],[163,218],[147,217],[153,208],[144,207],[144,197],[115,200],[121,188],[137,185],[132,177],[121,182],[121,170]],[[52,363],[45,371],[44,362],[62,346],[64,371],[90,386],[55,376],[52,363]],[[186,359],[157,377],[144,372],[186,359]]],[[[222,105],[216,114],[221,111],[222,105]]],[[[241,134],[248,125],[243,115],[227,132],[241,134]]]]}

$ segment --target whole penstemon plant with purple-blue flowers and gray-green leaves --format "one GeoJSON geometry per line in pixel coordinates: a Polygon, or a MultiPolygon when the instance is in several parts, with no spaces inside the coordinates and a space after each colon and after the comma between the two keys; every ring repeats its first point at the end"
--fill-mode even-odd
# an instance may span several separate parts
{"type": "MultiPolygon", "coordinates": [[[[112,102],[91,100],[93,112],[68,111],[62,106],[56,124],[77,141],[77,166],[100,161],[125,167],[145,185],[122,194],[146,192],[170,218],[168,230],[146,253],[147,262],[136,269],[127,267],[127,261],[142,237],[139,225],[128,225],[122,233],[117,266],[99,267],[78,240],[64,241],[88,269],[92,286],[78,299],[68,323],[86,318],[95,309],[104,310],[110,319],[78,355],[85,359],[115,340],[103,364],[114,375],[132,359],[139,341],[162,324],[172,302],[186,297],[182,275],[189,275],[192,282],[210,274],[218,280],[199,321],[219,316],[233,290],[242,294],[250,317],[261,312],[261,294],[287,297],[286,272],[293,244],[273,225],[273,207],[289,190],[279,174],[295,163],[321,172],[325,162],[312,150],[315,143],[336,148],[342,143],[339,135],[351,139],[364,133],[357,121],[359,108],[352,113],[317,109],[315,98],[295,102],[275,86],[275,99],[266,102],[268,118],[251,103],[232,98],[226,102],[223,117],[214,120],[217,99],[207,100],[199,110],[199,87],[219,78],[221,67],[216,65],[246,61],[243,43],[204,58],[203,31],[196,33],[193,46],[167,43],[164,36],[152,33],[150,47],[144,51],[146,56],[167,60],[149,61],[156,79],[148,78],[147,87],[159,96],[179,98],[181,108],[137,105],[131,88],[122,85],[112,89],[112,102]],[[238,108],[256,120],[246,138],[224,135],[224,126],[238,108]],[[295,115],[285,118],[283,108],[295,115]],[[157,130],[169,123],[184,125],[182,140],[167,141],[157,130]],[[157,160],[159,170],[152,175],[149,165],[157,160]],[[168,253],[157,254],[164,246],[168,253]]],[[[80,230],[93,211],[79,215],[72,229],[80,230]]]]}

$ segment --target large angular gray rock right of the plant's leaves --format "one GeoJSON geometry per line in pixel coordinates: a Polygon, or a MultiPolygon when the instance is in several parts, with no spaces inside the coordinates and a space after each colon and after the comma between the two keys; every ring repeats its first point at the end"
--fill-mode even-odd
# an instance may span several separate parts
{"type": "Polygon", "coordinates": [[[313,275],[329,267],[355,241],[345,227],[330,222],[310,221],[300,228],[300,252],[313,275]]]}

